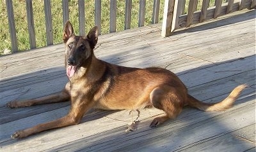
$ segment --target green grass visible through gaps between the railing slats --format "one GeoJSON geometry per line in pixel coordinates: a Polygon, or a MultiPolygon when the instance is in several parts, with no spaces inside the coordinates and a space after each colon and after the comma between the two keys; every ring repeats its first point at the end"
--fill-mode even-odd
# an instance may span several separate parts
{"type": "MultiPolygon", "coordinates": [[[[44,17],[44,1],[32,1],[33,2],[33,16],[35,24],[36,35],[36,47],[46,46],[46,34],[45,34],[45,17],[44,17]]],[[[102,0],[102,12],[101,12],[101,34],[106,34],[109,31],[109,4],[110,0],[102,0]]],[[[214,1],[211,1],[211,6],[214,1]]],[[[160,2],[159,22],[163,20],[163,5],[164,0],[160,2]]],[[[188,7],[188,0],[186,3],[188,7]]],[[[198,1],[198,10],[202,5],[202,0],[198,1]]],[[[138,10],[140,7],[140,0],[132,0],[132,18],[131,28],[138,27],[138,10]]],[[[4,50],[12,50],[10,33],[8,31],[8,18],[6,11],[6,3],[4,0],[0,1],[0,55],[4,50]]],[[[186,8],[187,10],[187,8],[186,8]]],[[[185,10],[185,12],[186,12],[185,10]]],[[[62,19],[62,4],[61,0],[51,0],[52,11],[52,32],[54,44],[62,43],[63,34],[63,19],[62,19]]],[[[79,34],[78,27],[78,1],[69,1],[69,18],[70,22],[74,25],[74,31],[79,34]]],[[[153,0],[147,0],[145,25],[151,24],[153,11],[153,0]]],[[[85,24],[86,33],[94,26],[94,0],[85,1],[85,24]]],[[[15,27],[17,34],[17,43],[19,50],[29,50],[29,35],[28,35],[28,21],[26,17],[26,3],[24,0],[13,0],[13,13],[15,18],[15,27]]],[[[117,18],[116,18],[116,31],[124,30],[124,17],[125,17],[125,1],[117,1],[117,18]]]]}

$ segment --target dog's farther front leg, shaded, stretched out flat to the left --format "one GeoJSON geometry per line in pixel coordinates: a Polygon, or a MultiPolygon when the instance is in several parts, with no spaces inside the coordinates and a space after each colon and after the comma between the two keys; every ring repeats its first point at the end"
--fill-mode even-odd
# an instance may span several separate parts
{"type": "Polygon", "coordinates": [[[51,104],[56,102],[65,102],[69,99],[70,99],[70,95],[68,94],[67,90],[63,90],[58,94],[48,95],[48,96],[37,98],[37,99],[30,99],[30,100],[24,100],[24,101],[14,100],[14,101],[8,102],[6,106],[10,108],[29,107],[37,104],[51,104]]]}

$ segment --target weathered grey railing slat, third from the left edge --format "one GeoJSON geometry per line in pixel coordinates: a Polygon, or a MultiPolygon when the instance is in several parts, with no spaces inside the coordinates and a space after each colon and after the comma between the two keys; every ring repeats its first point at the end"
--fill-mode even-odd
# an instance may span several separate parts
{"type": "Polygon", "coordinates": [[[52,11],[51,11],[51,1],[44,1],[44,13],[45,13],[45,27],[46,27],[46,41],[47,45],[53,45],[52,36],[52,11]]]}

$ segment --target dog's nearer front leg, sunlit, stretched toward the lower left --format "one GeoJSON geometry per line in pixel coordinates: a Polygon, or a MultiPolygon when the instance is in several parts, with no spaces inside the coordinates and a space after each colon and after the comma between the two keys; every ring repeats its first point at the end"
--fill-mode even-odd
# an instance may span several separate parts
{"type": "Polygon", "coordinates": [[[92,108],[93,102],[86,102],[82,100],[76,100],[72,102],[71,109],[66,116],[59,118],[58,120],[49,121],[47,123],[42,123],[36,125],[35,127],[27,128],[25,130],[20,130],[15,132],[11,137],[15,138],[24,138],[29,135],[36,134],[45,130],[50,130],[52,128],[60,128],[68,125],[76,125],[80,122],[83,114],[86,113],[90,108],[92,108]]]}

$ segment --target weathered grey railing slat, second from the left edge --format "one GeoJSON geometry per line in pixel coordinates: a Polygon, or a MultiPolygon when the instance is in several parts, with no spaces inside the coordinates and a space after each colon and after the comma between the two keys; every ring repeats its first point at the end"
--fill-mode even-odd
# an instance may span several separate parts
{"type": "Polygon", "coordinates": [[[27,19],[28,19],[28,34],[29,34],[30,49],[36,48],[35,25],[34,25],[33,7],[32,7],[31,0],[26,0],[26,12],[27,12],[27,19]]]}

